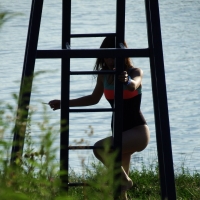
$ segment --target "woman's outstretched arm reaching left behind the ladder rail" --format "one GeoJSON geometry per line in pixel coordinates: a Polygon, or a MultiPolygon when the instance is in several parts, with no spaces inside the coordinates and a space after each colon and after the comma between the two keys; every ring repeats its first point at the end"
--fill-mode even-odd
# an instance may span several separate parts
{"type": "MultiPolygon", "coordinates": [[[[103,76],[98,75],[96,86],[92,94],[77,99],[69,100],[69,107],[90,106],[97,104],[103,95],[103,90],[104,90],[103,76]]],[[[49,102],[49,105],[53,110],[60,109],[60,100],[52,100],[49,102]]]]}

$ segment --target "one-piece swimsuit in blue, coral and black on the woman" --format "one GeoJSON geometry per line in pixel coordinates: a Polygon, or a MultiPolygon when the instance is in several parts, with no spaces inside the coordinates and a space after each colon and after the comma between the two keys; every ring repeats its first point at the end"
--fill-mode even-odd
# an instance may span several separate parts
{"type": "MultiPolygon", "coordinates": [[[[114,105],[114,85],[109,84],[107,76],[104,76],[104,95],[111,107],[114,105]]],[[[146,121],[140,111],[142,97],[142,86],[135,91],[129,91],[126,86],[123,89],[123,131],[132,129],[133,127],[145,125],[146,121]]],[[[113,118],[111,122],[111,128],[113,118]]]]}

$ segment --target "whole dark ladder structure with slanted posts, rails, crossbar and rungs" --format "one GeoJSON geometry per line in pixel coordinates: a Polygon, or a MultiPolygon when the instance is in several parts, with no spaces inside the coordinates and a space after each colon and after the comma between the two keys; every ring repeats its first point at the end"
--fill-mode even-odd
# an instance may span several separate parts
{"type": "MultiPolygon", "coordinates": [[[[160,29],[160,16],[158,0],[144,0],[146,9],[148,48],[146,49],[125,49],[121,45],[124,41],[125,34],[125,0],[116,0],[116,32],[115,33],[96,33],[96,34],[71,34],[71,0],[62,1],[62,48],[60,50],[37,50],[40,21],[42,15],[43,0],[32,0],[30,21],[27,35],[27,43],[24,57],[24,65],[21,78],[21,87],[18,102],[18,111],[25,110],[26,112],[18,112],[14,128],[13,146],[11,152],[11,164],[14,164],[17,155],[23,152],[25,127],[20,129],[19,121],[26,121],[28,117],[28,105],[31,98],[31,89],[33,81],[33,73],[36,59],[61,59],[61,133],[60,133],[60,160],[61,170],[68,171],[69,167],[69,150],[71,149],[94,149],[93,146],[70,146],[69,147],[69,130],[68,126],[70,112],[111,112],[113,111],[113,137],[114,146],[119,153],[116,158],[118,169],[121,166],[121,133],[122,121],[120,116],[123,112],[123,84],[115,81],[115,106],[113,109],[70,109],[69,108],[69,88],[70,76],[77,74],[101,74],[102,71],[70,71],[70,58],[97,58],[97,57],[115,57],[116,71],[106,71],[106,74],[114,74],[115,77],[123,71],[125,57],[149,57],[153,105],[155,115],[157,152],[160,173],[161,199],[176,199],[176,190],[174,183],[173,158],[171,149],[170,126],[167,105],[167,93],[165,83],[165,71],[162,51],[162,39],[160,29]],[[116,37],[115,49],[70,49],[70,39],[76,37],[116,37]],[[26,87],[26,90],[24,88],[26,87]],[[28,87],[28,88],[27,88],[28,87]]],[[[102,148],[102,147],[99,147],[102,148]]],[[[118,178],[120,174],[116,175],[118,178]]],[[[114,178],[117,178],[114,177],[114,178]]],[[[61,177],[65,183],[65,189],[70,186],[82,186],[84,183],[69,183],[68,175],[61,177]]],[[[115,195],[120,194],[120,188],[115,195]]]]}

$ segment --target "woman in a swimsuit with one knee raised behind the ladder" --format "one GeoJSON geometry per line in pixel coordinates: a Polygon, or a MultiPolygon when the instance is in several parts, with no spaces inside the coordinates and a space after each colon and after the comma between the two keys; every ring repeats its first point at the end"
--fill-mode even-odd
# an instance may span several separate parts
{"type": "MultiPolygon", "coordinates": [[[[127,47],[126,43],[124,45],[127,47]]],[[[100,48],[115,48],[115,38],[106,37],[100,48]]],[[[115,70],[114,58],[98,58],[94,70],[115,70]]],[[[141,93],[142,93],[143,72],[139,68],[134,68],[130,58],[125,58],[125,71],[119,75],[118,80],[124,83],[123,89],[123,133],[122,133],[122,190],[124,199],[126,190],[132,187],[132,180],[128,177],[131,155],[145,149],[149,142],[150,133],[146,121],[140,112],[141,93]]],[[[114,77],[113,75],[99,74],[96,86],[91,95],[84,96],[69,101],[69,106],[89,106],[99,102],[104,94],[108,102],[113,107],[114,103],[114,77]]],[[[60,108],[60,100],[49,102],[53,110],[60,108]]],[[[112,123],[111,123],[112,124],[112,123]]],[[[111,126],[112,127],[112,126],[111,126]]],[[[94,146],[103,146],[105,143],[113,143],[113,138],[107,137],[95,143],[94,146]]],[[[103,149],[94,149],[94,155],[102,163],[106,164],[108,152],[103,149]]]]}

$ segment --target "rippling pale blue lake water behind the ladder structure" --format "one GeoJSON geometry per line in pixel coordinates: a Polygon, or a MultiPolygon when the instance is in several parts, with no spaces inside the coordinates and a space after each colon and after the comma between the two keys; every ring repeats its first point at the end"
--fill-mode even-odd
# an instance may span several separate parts
{"type": "MultiPolygon", "coordinates": [[[[61,0],[44,1],[38,49],[59,49],[61,46],[61,0]]],[[[200,170],[200,1],[159,1],[163,53],[166,72],[167,96],[171,140],[175,170],[181,164],[200,170]]],[[[0,29],[0,100],[14,104],[12,93],[19,92],[28,31],[31,1],[0,1],[3,10],[22,15],[9,20],[0,29]]],[[[73,0],[72,33],[115,32],[115,0],[73,0]]],[[[127,0],[126,41],[131,48],[147,48],[144,2],[127,0]]],[[[72,39],[72,48],[99,48],[102,38],[72,39]]],[[[155,163],[156,137],[152,102],[151,77],[148,58],[133,58],[135,66],[144,71],[141,110],[151,131],[149,146],[132,157],[131,165],[155,163]]],[[[71,70],[92,70],[95,59],[71,59],[71,70]]],[[[31,105],[37,108],[33,122],[41,121],[41,102],[60,98],[60,60],[37,60],[35,72],[45,71],[34,80],[31,105]]],[[[76,98],[90,94],[95,86],[92,76],[71,76],[70,96],[76,98]]],[[[95,108],[109,107],[103,97],[95,108]]],[[[49,124],[59,121],[59,111],[47,107],[49,124]]],[[[83,138],[85,144],[111,134],[111,113],[70,114],[70,144],[83,138]],[[94,134],[88,136],[91,125],[94,134]]],[[[59,125],[55,125],[55,147],[59,147],[59,125]]],[[[37,141],[40,130],[32,125],[32,136],[37,141]]],[[[6,138],[10,138],[9,133],[6,138]]],[[[56,151],[59,158],[59,151],[56,151]]],[[[92,160],[91,151],[70,152],[70,167],[81,170],[80,160],[92,160]]]]}

